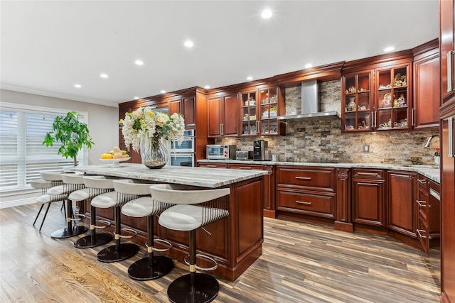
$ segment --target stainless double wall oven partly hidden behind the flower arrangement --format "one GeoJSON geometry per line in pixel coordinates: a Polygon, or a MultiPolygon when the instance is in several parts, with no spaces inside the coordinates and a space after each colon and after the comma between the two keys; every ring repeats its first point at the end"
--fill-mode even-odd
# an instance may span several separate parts
{"type": "Polygon", "coordinates": [[[171,142],[171,155],[169,162],[173,166],[194,166],[194,130],[187,129],[183,133],[183,142],[171,142]]]}

